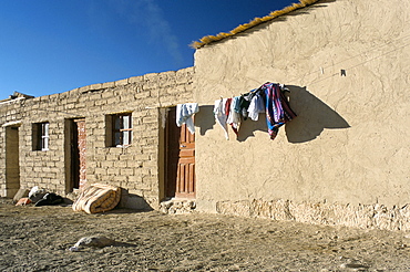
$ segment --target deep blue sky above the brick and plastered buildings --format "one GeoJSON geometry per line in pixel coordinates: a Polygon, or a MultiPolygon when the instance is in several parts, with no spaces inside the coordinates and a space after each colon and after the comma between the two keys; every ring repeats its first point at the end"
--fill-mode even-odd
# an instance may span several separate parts
{"type": "Polygon", "coordinates": [[[0,0],[0,100],[194,64],[193,41],[289,0],[0,0]]]}

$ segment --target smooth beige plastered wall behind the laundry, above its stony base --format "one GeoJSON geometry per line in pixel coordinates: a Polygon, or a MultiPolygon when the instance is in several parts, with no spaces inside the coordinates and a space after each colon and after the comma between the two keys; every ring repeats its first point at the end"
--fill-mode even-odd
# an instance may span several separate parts
{"type": "Polygon", "coordinates": [[[409,1],[320,1],[197,50],[197,208],[409,203],[409,1]],[[265,116],[225,140],[214,101],[267,81],[289,86],[298,117],[275,140],[265,116]]]}

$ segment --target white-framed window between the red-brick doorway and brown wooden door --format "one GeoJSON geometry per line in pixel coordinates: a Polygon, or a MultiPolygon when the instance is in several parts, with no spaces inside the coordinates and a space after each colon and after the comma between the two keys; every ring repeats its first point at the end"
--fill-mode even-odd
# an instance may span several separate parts
{"type": "Polygon", "coordinates": [[[107,130],[107,137],[109,137],[107,146],[121,147],[121,146],[131,145],[132,143],[132,115],[131,113],[110,115],[106,127],[110,130],[110,132],[107,130]]]}

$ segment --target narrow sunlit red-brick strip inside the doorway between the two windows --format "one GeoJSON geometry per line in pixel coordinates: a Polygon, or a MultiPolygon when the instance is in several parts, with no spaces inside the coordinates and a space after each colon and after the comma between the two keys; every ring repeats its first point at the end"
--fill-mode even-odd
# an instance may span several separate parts
{"type": "Polygon", "coordinates": [[[79,188],[82,188],[86,182],[86,132],[85,132],[85,119],[74,119],[76,129],[76,150],[78,155],[74,157],[78,161],[74,165],[78,165],[78,171],[73,175],[76,175],[79,180],[79,188]]]}

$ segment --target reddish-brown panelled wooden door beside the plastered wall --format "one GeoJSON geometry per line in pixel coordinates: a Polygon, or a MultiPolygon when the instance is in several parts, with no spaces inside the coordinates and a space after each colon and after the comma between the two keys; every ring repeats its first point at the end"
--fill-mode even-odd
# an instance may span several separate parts
{"type": "Polygon", "coordinates": [[[195,135],[175,118],[174,107],[166,124],[166,197],[195,198],[195,135]]]}

